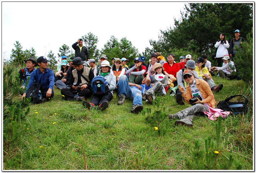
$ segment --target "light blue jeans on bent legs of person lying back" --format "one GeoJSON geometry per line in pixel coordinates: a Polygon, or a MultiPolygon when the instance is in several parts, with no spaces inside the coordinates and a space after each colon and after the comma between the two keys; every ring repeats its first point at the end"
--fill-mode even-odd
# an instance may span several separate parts
{"type": "Polygon", "coordinates": [[[132,106],[142,105],[142,93],[137,87],[130,87],[126,75],[122,75],[118,81],[118,92],[126,98],[133,100],[132,106]]]}

